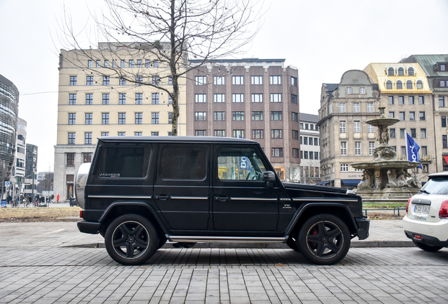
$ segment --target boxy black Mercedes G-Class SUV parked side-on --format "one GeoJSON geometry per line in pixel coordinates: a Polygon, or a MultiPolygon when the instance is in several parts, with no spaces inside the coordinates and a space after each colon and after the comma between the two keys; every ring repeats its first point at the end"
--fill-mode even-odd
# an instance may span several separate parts
{"type": "Polygon", "coordinates": [[[287,243],[310,262],[342,260],[369,221],[353,191],[283,183],[260,144],[228,137],[100,137],[77,172],[80,232],[123,265],[166,241],[287,243]]]}

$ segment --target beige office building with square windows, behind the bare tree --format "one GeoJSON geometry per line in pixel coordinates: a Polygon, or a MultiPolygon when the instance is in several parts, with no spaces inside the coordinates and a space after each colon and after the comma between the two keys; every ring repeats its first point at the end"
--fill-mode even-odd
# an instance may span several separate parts
{"type": "MultiPolygon", "coordinates": [[[[61,201],[73,195],[77,168],[92,160],[98,137],[170,135],[173,107],[168,94],[139,85],[170,89],[169,75],[155,56],[135,51],[131,44],[61,50],[54,156],[54,193],[61,201]]],[[[179,81],[178,135],[187,135],[185,79],[179,81]]]]}

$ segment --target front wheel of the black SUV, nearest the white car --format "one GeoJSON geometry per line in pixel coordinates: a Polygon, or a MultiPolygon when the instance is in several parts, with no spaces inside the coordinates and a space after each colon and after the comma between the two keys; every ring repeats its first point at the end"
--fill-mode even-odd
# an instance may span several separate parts
{"type": "Polygon", "coordinates": [[[313,215],[299,231],[302,255],[317,265],[340,262],[350,248],[350,232],[339,217],[330,214],[313,215]]]}

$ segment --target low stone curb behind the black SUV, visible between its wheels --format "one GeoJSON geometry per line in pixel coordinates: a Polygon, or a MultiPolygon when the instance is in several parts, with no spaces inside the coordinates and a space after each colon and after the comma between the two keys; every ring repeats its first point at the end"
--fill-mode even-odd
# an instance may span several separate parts
{"type": "MultiPolygon", "coordinates": [[[[88,243],[63,246],[70,248],[105,248],[104,243],[88,243]]],[[[354,241],[350,248],[415,247],[412,241],[354,241]]],[[[173,243],[166,243],[163,249],[176,249],[173,243]]],[[[290,249],[285,243],[196,243],[190,248],[252,248],[252,249],[290,249]]],[[[178,248],[177,248],[178,249],[178,248]]]]}

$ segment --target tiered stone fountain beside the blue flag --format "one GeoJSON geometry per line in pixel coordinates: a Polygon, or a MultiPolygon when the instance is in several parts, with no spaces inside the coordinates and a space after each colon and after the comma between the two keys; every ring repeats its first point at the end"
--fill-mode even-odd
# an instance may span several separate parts
{"type": "Polygon", "coordinates": [[[408,169],[414,169],[420,163],[397,159],[397,153],[389,145],[389,127],[399,120],[385,118],[384,113],[385,107],[380,107],[380,118],[366,121],[369,125],[378,127],[376,140],[380,145],[375,148],[373,160],[351,163],[351,167],[363,170],[357,194],[365,202],[407,203],[419,189],[408,169]]]}

